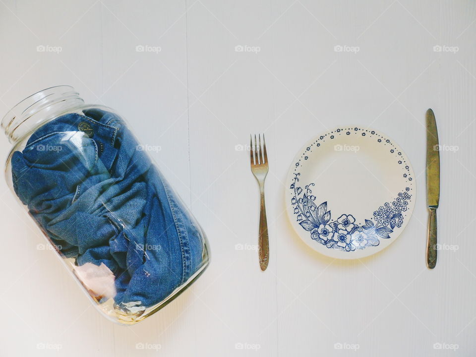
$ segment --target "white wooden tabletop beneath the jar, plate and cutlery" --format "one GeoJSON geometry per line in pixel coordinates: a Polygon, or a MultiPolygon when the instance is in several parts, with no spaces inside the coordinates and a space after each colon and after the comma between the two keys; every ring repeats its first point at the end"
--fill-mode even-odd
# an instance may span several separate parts
{"type": "MultiPolygon", "coordinates": [[[[0,355],[475,356],[475,40],[473,1],[0,0],[0,113],[60,84],[115,108],[160,145],[151,155],[212,250],[173,303],[114,325],[42,249],[2,179],[0,355]],[[438,210],[440,242],[458,249],[441,251],[434,271],[424,259],[427,108],[440,143],[458,149],[441,152],[438,210]],[[405,232],[361,261],[311,251],[285,213],[292,158],[338,124],[387,133],[417,175],[405,232]],[[258,187],[240,150],[263,131],[264,273],[251,249],[258,187]]],[[[5,137],[0,145],[6,155],[5,137]]]]}

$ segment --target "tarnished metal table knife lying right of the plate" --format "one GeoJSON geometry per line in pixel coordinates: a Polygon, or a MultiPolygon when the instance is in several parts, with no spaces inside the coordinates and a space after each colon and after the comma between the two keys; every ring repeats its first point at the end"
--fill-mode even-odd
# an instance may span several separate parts
{"type": "Polygon", "coordinates": [[[437,256],[436,209],[440,200],[440,152],[435,115],[426,111],[426,204],[428,206],[428,237],[426,266],[433,269],[437,256]]]}

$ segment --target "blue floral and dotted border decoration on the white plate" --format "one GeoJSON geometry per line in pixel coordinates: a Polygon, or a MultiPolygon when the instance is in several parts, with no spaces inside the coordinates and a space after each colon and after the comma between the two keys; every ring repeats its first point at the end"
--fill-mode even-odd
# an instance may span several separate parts
{"type": "MultiPolygon", "coordinates": [[[[368,134],[369,138],[376,139],[378,143],[385,145],[389,148],[392,155],[398,158],[397,163],[402,165],[406,163],[402,161],[402,153],[396,150],[389,139],[383,138],[375,131],[366,129],[355,128],[338,128],[326,135],[322,135],[306,148],[306,155],[304,157],[307,160],[308,152],[312,152],[312,147],[318,148],[320,142],[334,139],[335,135],[340,135],[345,132],[345,135],[359,132],[361,136],[368,134]],[[348,131],[348,130],[353,130],[348,131]],[[385,141],[382,142],[382,139],[385,141]]],[[[365,219],[364,224],[357,224],[353,214],[345,213],[341,214],[337,219],[333,219],[331,211],[328,210],[327,202],[322,202],[319,205],[315,203],[316,196],[312,194],[312,187],[315,185],[313,182],[307,183],[303,187],[299,185],[299,167],[301,160],[298,160],[295,164],[294,179],[291,183],[290,189],[294,194],[291,198],[291,204],[293,206],[293,212],[297,222],[302,229],[309,232],[310,238],[317,243],[325,245],[329,249],[339,249],[342,251],[350,252],[358,249],[364,249],[369,246],[377,246],[380,243],[380,239],[391,238],[391,234],[395,228],[400,228],[404,224],[405,215],[403,214],[408,210],[409,203],[412,199],[412,195],[409,193],[412,186],[412,177],[410,176],[410,167],[405,165],[403,169],[403,178],[407,180],[409,186],[405,187],[392,202],[383,203],[377,210],[373,212],[373,217],[365,219]]]]}

